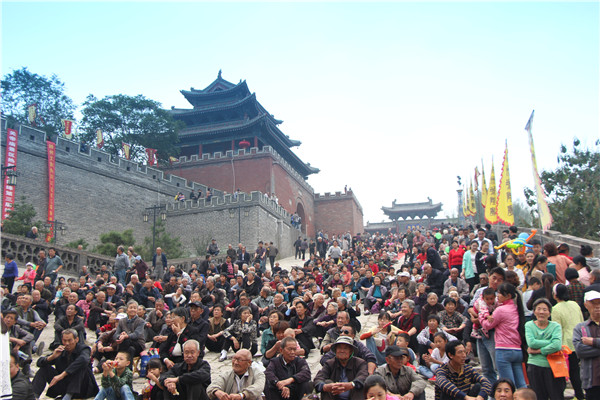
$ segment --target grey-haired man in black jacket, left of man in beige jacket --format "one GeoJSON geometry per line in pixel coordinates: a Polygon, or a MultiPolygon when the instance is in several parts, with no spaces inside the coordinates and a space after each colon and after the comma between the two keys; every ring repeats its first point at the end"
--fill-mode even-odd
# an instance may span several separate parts
{"type": "Polygon", "coordinates": [[[161,375],[164,398],[208,400],[206,388],[210,385],[210,364],[200,358],[200,344],[197,340],[188,340],[182,351],[183,362],[161,375]]]}

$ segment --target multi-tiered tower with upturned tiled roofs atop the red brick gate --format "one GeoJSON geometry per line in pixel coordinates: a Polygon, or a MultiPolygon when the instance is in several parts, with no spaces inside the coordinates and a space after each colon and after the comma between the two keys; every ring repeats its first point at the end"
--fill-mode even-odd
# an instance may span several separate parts
{"type": "Polygon", "coordinates": [[[231,83],[219,71],[217,79],[206,88],[181,90],[181,94],[193,108],[171,108],[173,117],[186,125],[179,132],[180,155],[202,157],[203,153],[225,154],[228,150],[271,146],[305,179],[319,172],[291,150],[301,142],[278,128],[283,121],[267,112],[246,81],[231,83]]]}

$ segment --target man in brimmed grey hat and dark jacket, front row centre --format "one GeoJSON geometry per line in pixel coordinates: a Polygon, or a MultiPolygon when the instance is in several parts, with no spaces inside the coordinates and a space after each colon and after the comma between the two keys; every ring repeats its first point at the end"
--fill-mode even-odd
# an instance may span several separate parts
{"type": "Polygon", "coordinates": [[[315,377],[315,389],[322,400],[363,400],[364,381],[369,376],[367,362],[355,357],[358,351],[348,336],[340,336],[332,346],[335,358],[328,360],[315,377]]]}

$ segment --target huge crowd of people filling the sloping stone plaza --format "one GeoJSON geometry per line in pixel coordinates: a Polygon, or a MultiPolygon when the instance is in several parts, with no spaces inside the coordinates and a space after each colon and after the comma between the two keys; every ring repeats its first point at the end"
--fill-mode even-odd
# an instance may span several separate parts
{"type": "Polygon", "coordinates": [[[187,271],[160,248],[148,265],[119,246],[112,268],[79,277],[58,276],[53,248],[22,276],[7,254],[13,392],[133,399],[134,364],[153,349],[142,398],[413,400],[433,385],[436,399],[545,400],[563,399],[567,379],[576,398],[600,398],[592,249],[533,239],[515,254],[500,247],[515,227],[486,228],[299,237],[290,270],[272,242],[229,245],[222,262],[211,243],[187,271]],[[377,324],[363,326],[363,314],[377,324]],[[45,329],[55,334],[44,353],[45,329]],[[231,373],[211,374],[207,352],[232,357],[231,373]]]}

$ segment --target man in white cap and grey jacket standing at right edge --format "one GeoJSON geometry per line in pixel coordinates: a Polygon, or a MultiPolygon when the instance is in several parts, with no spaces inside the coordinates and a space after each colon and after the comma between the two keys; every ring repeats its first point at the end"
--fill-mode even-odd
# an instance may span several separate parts
{"type": "Polygon", "coordinates": [[[583,300],[590,318],[573,329],[573,345],[581,360],[581,384],[586,398],[600,399],[600,292],[589,291],[583,300]]]}

